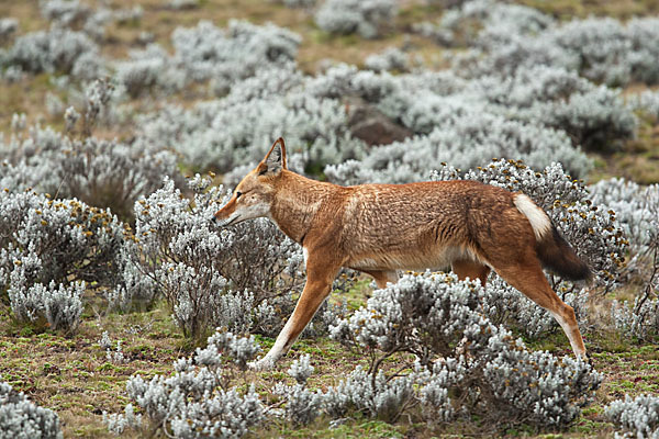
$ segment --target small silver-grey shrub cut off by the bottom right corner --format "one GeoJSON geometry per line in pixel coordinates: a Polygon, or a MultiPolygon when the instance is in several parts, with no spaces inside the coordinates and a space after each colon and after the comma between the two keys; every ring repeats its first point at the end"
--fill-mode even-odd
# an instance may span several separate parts
{"type": "Polygon", "coordinates": [[[604,408],[606,417],[627,434],[623,437],[659,438],[659,398],[640,395],[616,399],[604,408]]]}

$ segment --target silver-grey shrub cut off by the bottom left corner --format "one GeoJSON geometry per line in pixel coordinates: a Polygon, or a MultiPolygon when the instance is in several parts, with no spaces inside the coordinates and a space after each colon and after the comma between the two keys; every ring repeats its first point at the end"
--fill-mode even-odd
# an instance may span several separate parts
{"type": "Polygon", "coordinates": [[[30,402],[22,392],[0,382],[0,434],[15,439],[62,439],[57,414],[30,402]]]}

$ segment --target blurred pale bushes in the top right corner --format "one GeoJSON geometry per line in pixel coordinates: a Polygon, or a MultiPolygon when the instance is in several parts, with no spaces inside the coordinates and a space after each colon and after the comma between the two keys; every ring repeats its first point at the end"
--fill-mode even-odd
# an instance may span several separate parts
{"type": "Polygon", "coordinates": [[[547,65],[576,70],[610,86],[630,81],[654,83],[657,19],[635,19],[627,25],[611,18],[590,18],[559,23],[527,7],[495,0],[474,0],[447,12],[438,25],[424,23],[420,32],[443,44],[476,46],[455,60],[472,75],[547,65]]]}

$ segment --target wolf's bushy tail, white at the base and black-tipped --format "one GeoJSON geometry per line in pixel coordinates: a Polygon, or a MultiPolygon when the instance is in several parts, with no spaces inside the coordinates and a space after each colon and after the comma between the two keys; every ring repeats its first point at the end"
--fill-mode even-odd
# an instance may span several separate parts
{"type": "Polygon", "coordinates": [[[574,249],[565,240],[558,229],[551,224],[549,216],[528,196],[515,194],[515,206],[530,223],[536,236],[536,251],[543,267],[556,272],[561,278],[571,281],[591,281],[593,273],[581,260],[574,249]]]}

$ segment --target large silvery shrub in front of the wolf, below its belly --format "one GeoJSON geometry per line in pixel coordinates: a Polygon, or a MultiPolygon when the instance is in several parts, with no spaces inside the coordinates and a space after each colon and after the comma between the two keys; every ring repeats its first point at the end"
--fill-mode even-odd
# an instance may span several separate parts
{"type": "Polygon", "coordinates": [[[571,423],[601,375],[581,359],[528,350],[482,314],[487,306],[480,285],[453,274],[404,275],[377,290],[332,328],[342,344],[369,352],[371,365],[327,391],[328,412],[356,407],[395,420],[422,404],[434,421],[487,414],[498,425],[571,423]],[[401,368],[388,378],[382,364],[395,352],[413,353],[416,362],[407,363],[407,374],[398,376],[401,368]],[[454,401],[456,394],[462,396],[454,401]]]}

